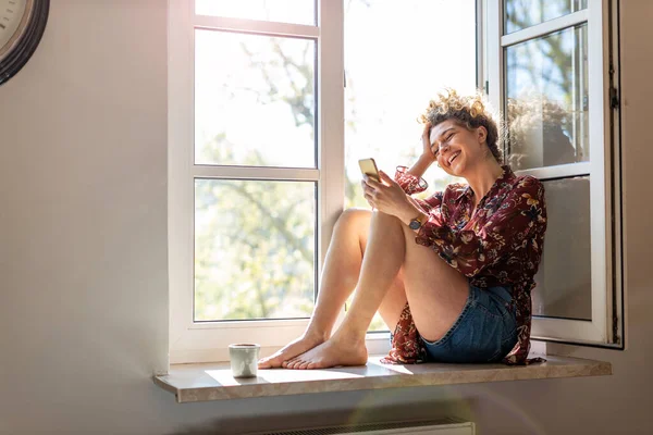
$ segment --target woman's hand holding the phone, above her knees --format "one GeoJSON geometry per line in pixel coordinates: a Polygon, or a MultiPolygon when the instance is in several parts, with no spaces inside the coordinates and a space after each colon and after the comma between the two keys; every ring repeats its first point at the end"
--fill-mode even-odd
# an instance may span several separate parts
{"type": "Polygon", "coordinates": [[[419,212],[419,208],[410,201],[404,189],[386,173],[379,171],[380,182],[364,177],[361,182],[365,199],[374,209],[397,216],[402,222],[408,223],[419,212]]]}

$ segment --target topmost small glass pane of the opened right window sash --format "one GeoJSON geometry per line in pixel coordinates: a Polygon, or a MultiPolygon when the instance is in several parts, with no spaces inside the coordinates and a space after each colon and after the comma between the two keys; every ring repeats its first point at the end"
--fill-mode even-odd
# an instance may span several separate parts
{"type": "Polygon", "coordinates": [[[504,0],[505,33],[544,23],[588,8],[588,0],[504,0]]]}

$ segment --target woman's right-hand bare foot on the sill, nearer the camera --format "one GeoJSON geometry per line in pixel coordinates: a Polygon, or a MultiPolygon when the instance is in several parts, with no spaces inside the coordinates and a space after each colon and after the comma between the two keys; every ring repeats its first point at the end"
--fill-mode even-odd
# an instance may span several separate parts
{"type": "Polygon", "coordinates": [[[337,365],[365,365],[367,348],[364,340],[333,336],[323,344],[289,360],[286,369],[329,369],[337,365]]]}

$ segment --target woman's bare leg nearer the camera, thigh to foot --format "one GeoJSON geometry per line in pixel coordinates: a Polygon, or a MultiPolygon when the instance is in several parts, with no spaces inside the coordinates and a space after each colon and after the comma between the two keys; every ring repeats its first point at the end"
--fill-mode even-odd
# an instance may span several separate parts
{"type": "MultiPolygon", "coordinates": [[[[375,212],[352,308],[338,331],[323,344],[292,359],[288,369],[361,365],[365,336],[389,288],[403,268],[403,284],[420,334],[441,338],[453,325],[469,295],[467,279],[435,252],[415,243],[415,233],[394,216],[375,212]]],[[[403,304],[398,310],[403,309],[403,304]]],[[[397,316],[398,319],[398,316],[397,316]]]]}

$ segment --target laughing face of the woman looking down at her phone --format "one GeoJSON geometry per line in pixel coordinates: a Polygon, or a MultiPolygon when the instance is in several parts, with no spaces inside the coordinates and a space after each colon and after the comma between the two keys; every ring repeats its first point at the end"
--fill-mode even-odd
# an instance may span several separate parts
{"type": "Polygon", "coordinates": [[[431,128],[431,149],[444,172],[465,177],[470,169],[485,159],[489,151],[486,137],[485,127],[468,130],[454,120],[447,120],[431,128]]]}

